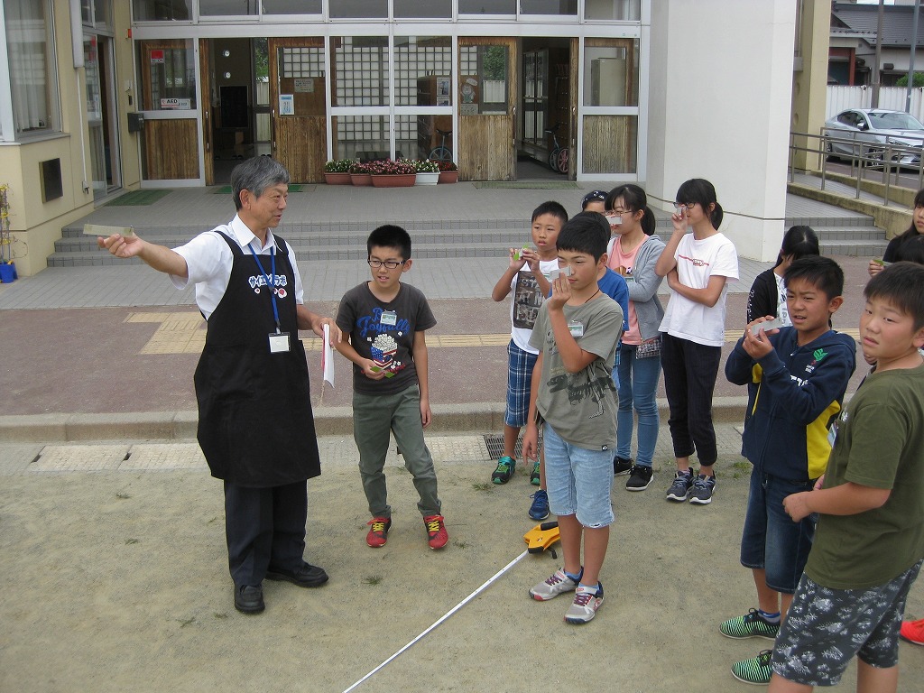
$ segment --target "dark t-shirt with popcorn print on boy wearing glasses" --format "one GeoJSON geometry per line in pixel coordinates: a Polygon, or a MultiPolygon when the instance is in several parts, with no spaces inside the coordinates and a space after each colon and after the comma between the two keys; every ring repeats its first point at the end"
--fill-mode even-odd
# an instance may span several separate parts
{"type": "Polygon", "coordinates": [[[353,364],[353,389],[362,395],[393,395],[416,384],[414,333],[435,324],[427,298],[414,286],[402,284],[388,303],[375,298],[367,282],[347,291],[340,299],[337,327],[349,333],[350,344],[359,356],[392,373],[371,380],[353,364]]]}

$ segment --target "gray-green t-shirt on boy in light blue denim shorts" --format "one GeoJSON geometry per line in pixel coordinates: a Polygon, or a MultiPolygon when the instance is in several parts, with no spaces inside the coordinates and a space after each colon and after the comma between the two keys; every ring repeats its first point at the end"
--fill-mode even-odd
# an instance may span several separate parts
{"type": "Polygon", "coordinates": [[[623,334],[623,310],[603,295],[583,306],[565,305],[565,320],[573,327],[571,334],[578,346],[599,359],[583,371],[565,371],[549,322],[549,306],[543,303],[529,338],[529,344],[542,354],[536,407],[566,443],[588,450],[614,450],[618,400],[611,364],[623,334]]]}

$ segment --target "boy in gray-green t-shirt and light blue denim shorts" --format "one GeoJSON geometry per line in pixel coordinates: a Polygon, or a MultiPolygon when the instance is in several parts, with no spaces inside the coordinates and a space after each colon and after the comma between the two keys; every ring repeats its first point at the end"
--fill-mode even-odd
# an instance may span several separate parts
{"type": "Polygon", "coordinates": [[[617,402],[610,364],[623,332],[623,311],[597,285],[608,237],[601,214],[580,215],[565,225],[556,243],[563,274],[554,279],[529,340],[540,354],[523,454],[536,457],[541,421],[543,474],[565,553],[565,565],[529,594],[545,602],[575,590],[565,614],[571,624],[590,621],[603,602],[600,570],[613,522],[617,402]]]}

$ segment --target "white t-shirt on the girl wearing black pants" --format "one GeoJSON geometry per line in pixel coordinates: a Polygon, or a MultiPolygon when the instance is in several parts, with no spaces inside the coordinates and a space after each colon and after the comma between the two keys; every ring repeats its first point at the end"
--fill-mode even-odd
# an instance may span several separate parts
{"type": "Polygon", "coordinates": [[[723,276],[727,281],[719,300],[711,308],[672,292],[664,311],[661,332],[704,346],[723,346],[725,295],[728,283],[738,278],[735,245],[721,233],[702,240],[689,233],[680,239],[674,259],[677,261],[677,278],[684,286],[706,288],[712,276],[723,276]]]}

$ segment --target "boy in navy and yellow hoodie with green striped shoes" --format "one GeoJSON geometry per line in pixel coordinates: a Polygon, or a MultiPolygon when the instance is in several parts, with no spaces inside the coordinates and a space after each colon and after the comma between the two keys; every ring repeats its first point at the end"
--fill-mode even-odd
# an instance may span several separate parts
{"type": "MultiPolygon", "coordinates": [[[[754,468],[741,565],[753,572],[758,608],[725,621],[719,630],[727,638],[776,637],[815,534],[815,517],[794,523],[783,499],[811,490],[824,473],[831,454],[828,429],[856,367],[854,340],[829,327],[844,301],[837,262],[801,258],[786,268],[784,283],[792,326],[765,331],[760,325],[771,316],[758,318],[725,361],[729,381],[757,386],[742,445],[754,468]]],[[[770,650],[736,663],[732,675],[769,683],[770,650]]]]}

